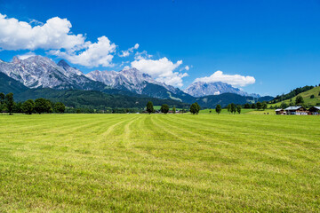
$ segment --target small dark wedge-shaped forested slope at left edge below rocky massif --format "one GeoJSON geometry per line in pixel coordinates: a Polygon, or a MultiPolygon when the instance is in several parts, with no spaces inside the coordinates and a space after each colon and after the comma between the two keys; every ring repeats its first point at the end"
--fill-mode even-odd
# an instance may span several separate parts
{"type": "Polygon", "coordinates": [[[20,93],[21,91],[27,91],[28,88],[22,83],[0,73],[0,92],[7,94],[9,92],[20,93]]]}

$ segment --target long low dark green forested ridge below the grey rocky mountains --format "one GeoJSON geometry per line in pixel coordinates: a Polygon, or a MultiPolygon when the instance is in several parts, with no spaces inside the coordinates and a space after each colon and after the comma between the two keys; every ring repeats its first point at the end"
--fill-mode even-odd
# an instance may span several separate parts
{"type": "Polygon", "coordinates": [[[148,101],[152,101],[154,105],[168,104],[169,106],[178,106],[188,108],[188,104],[172,99],[154,99],[130,97],[124,95],[111,95],[100,91],[60,91],[50,88],[30,89],[15,94],[14,99],[24,101],[27,99],[51,99],[54,102],[61,101],[70,107],[89,107],[95,109],[104,109],[106,107],[145,107],[148,101]]]}

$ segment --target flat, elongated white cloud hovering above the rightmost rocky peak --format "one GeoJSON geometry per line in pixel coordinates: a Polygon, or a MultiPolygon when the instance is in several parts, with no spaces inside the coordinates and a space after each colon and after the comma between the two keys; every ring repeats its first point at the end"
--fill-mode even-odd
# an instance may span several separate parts
{"type": "Polygon", "coordinates": [[[218,70],[210,76],[196,78],[195,82],[204,82],[204,83],[229,83],[235,87],[244,87],[249,84],[255,83],[255,79],[252,76],[244,75],[225,75],[222,71],[218,70]]]}

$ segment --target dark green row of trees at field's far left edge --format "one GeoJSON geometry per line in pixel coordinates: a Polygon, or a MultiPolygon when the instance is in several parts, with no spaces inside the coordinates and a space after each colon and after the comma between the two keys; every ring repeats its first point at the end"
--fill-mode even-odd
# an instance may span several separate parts
{"type": "Polygon", "coordinates": [[[24,102],[16,103],[13,99],[13,93],[0,93],[0,113],[6,112],[13,113],[25,113],[25,114],[43,114],[43,113],[64,113],[66,106],[61,103],[53,103],[49,99],[28,99],[24,102]]]}

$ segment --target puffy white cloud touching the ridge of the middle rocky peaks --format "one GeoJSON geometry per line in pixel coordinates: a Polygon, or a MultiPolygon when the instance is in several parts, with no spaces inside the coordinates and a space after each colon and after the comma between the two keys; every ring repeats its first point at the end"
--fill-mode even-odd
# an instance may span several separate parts
{"type": "Polygon", "coordinates": [[[132,67],[139,69],[142,73],[151,75],[156,81],[163,82],[172,86],[181,87],[182,78],[188,76],[187,73],[173,72],[180,67],[182,60],[173,63],[167,58],[162,59],[139,59],[131,63],[132,67]]]}

